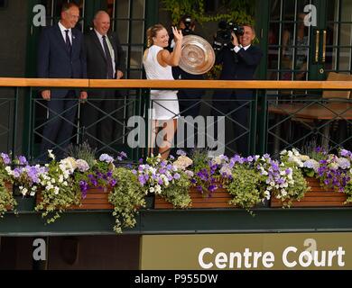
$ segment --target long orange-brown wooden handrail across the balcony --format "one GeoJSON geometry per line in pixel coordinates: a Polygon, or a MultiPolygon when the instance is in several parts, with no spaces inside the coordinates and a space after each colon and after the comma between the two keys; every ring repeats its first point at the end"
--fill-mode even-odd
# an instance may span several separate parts
{"type": "Polygon", "coordinates": [[[0,87],[82,87],[161,89],[352,89],[352,81],[272,81],[272,80],[105,80],[66,78],[0,77],[0,87]]]}

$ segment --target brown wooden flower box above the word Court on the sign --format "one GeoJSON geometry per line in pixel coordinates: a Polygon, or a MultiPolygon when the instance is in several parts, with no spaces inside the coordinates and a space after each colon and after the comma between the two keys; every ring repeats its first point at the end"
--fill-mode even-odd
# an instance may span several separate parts
{"type": "MultiPolygon", "coordinates": [[[[300,201],[293,201],[291,207],[341,207],[352,206],[352,203],[344,204],[347,199],[345,193],[336,192],[332,189],[325,190],[320,186],[316,178],[306,178],[310,191],[305,193],[300,201]]],[[[283,207],[280,199],[272,198],[270,207],[283,207]]]]}

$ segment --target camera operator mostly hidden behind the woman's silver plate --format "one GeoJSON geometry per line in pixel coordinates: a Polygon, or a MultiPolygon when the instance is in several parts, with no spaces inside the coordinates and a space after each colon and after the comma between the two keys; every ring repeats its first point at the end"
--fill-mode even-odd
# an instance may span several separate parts
{"type": "MultiPolygon", "coordinates": [[[[184,15],[181,17],[179,22],[179,28],[182,30],[182,35],[197,35],[195,32],[196,29],[196,22],[189,16],[184,15]]],[[[169,50],[172,51],[173,49],[173,35],[171,35],[169,50]]],[[[187,79],[187,80],[203,80],[203,75],[193,75],[187,73],[181,69],[181,67],[172,67],[172,76],[174,79],[187,79]]],[[[181,116],[192,116],[197,117],[199,115],[200,110],[200,99],[204,94],[203,90],[198,89],[180,89],[179,93],[177,94],[180,103],[180,112],[181,116]]],[[[196,138],[196,137],[195,137],[196,138]]]]}

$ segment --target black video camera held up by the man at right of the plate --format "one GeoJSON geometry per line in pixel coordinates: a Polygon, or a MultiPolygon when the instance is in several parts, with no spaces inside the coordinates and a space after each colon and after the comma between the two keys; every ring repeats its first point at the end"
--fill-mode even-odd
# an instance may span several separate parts
{"type": "Polygon", "coordinates": [[[237,25],[236,23],[225,20],[218,23],[217,35],[214,37],[213,48],[219,50],[225,47],[231,47],[232,45],[232,35],[234,32],[236,36],[242,36],[245,33],[243,26],[237,25]]]}

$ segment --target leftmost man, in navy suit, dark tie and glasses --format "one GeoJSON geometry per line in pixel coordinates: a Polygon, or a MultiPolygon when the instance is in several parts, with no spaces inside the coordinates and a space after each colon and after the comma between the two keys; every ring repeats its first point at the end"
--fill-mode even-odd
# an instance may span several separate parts
{"type": "MultiPolygon", "coordinates": [[[[60,22],[42,31],[38,47],[38,76],[41,78],[86,78],[83,35],[75,29],[79,21],[79,6],[63,4],[60,22]]],[[[63,157],[72,138],[78,101],[86,99],[86,92],[68,89],[42,90],[42,98],[48,101],[49,119],[42,132],[42,158],[47,150],[55,149],[63,157]]]]}

